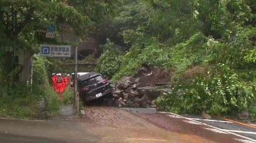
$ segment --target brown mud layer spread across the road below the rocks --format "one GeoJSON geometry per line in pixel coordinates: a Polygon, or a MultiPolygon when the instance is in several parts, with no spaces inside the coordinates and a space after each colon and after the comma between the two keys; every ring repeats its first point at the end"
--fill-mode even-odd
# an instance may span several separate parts
{"type": "Polygon", "coordinates": [[[227,134],[216,134],[202,126],[172,119],[142,108],[86,107],[90,133],[103,142],[240,142],[227,134]]]}

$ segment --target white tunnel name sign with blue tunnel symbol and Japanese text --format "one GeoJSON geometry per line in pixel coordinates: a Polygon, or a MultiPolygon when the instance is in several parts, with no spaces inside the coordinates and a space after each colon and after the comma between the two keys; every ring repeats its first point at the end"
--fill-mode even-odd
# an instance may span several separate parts
{"type": "Polygon", "coordinates": [[[40,55],[46,57],[70,57],[70,45],[40,45],[40,55]]]}

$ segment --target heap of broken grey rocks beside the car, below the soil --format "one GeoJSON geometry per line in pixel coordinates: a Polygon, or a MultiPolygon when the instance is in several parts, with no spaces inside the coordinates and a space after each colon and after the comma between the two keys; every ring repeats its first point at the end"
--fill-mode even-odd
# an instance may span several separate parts
{"type": "MultiPolygon", "coordinates": [[[[140,78],[126,77],[113,86],[112,101],[115,107],[155,108],[154,100],[170,89],[140,87],[140,78]]],[[[110,99],[109,99],[110,100],[110,99]]],[[[111,102],[111,101],[109,101],[111,102]]]]}

